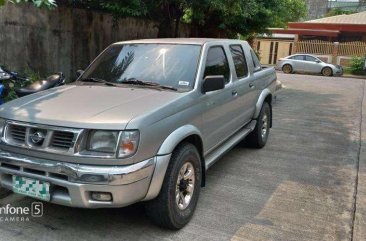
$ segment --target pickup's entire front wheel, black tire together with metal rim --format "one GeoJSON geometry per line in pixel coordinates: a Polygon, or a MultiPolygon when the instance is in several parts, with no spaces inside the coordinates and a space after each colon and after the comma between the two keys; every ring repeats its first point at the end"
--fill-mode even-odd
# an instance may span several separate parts
{"type": "Polygon", "coordinates": [[[146,203],[153,223],[180,229],[192,218],[201,190],[201,158],[197,148],[184,143],[173,152],[158,197],[146,203]]]}

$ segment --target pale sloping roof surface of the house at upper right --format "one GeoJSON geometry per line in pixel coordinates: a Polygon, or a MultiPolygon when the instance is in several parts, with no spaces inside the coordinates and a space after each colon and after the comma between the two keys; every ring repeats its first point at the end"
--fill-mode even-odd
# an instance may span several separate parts
{"type": "Polygon", "coordinates": [[[320,18],[306,21],[305,23],[323,23],[323,24],[360,24],[366,25],[366,11],[349,15],[338,15],[327,18],[320,18]]]}

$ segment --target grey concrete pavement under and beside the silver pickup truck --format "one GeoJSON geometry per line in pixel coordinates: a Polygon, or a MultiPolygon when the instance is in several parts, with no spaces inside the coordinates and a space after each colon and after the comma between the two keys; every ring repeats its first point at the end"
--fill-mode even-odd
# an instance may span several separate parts
{"type": "Polygon", "coordinates": [[[153,226],[141,205],[45,204],[43,218],[1,223],[0,240],[366,240],[365,81],[278,77],[286,89],[268,145],[236,147],[213,166],[196,215],[181,231],[153,226]]]}

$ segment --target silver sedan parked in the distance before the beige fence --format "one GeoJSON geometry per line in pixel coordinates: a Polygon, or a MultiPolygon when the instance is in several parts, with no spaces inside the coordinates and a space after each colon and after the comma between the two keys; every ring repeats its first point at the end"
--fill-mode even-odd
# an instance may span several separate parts
{"type": "Polygon", "coordinates": [[[295,54],[277,61],[277,70],[286,74],[302,72],[310,74],[322,74],[324,76],[343,75],[340,65],[328,64],[319,58],[309,54],[295,54]]]}

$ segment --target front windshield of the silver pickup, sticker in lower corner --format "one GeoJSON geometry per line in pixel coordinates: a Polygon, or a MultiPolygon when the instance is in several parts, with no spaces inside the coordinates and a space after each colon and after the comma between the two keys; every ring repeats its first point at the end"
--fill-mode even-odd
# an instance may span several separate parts
{"type": "Polygon", "coordinates": [[[112,45],[81,80],[112,84],[156,83],[181,91],[193,89],[201,46],[178,44],[112,45]]]}

